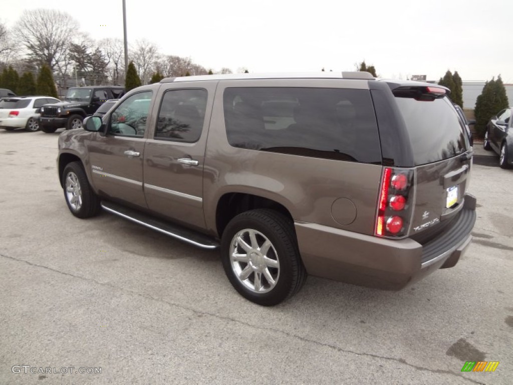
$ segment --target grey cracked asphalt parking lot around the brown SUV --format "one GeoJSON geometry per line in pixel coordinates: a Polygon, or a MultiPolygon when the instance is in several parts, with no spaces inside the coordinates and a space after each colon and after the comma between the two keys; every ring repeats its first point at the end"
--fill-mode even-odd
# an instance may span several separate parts
{"type": "Polygon", "coordinates": [[[456,267],[401,292],[309,277],[266,308],[216,252],[73,217],[57,137],[0,130],[1,384],[511,384],[513,171],[498,162],[473,166],[478,220],[456,267]],[[479,360],[500,363],[461,372],[479,360]]]}

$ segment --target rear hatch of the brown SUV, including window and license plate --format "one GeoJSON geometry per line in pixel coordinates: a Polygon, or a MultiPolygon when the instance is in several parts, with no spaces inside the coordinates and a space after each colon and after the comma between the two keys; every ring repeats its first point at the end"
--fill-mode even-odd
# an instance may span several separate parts
{"type": "Polygon", "coordinates": [[[420,243],[438,235],[457,216],[469,181],[472,148],[446,92],[437,86],[392,90],[416,168],[408,234],[420,243]]]}

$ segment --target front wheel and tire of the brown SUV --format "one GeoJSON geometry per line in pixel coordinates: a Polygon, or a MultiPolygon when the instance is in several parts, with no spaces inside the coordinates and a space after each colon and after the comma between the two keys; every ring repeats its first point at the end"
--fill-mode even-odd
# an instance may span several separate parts
{"type": "Polygon", "coordinates": [[[94,194],[80,163],[71,162],[64,168],[62,184],[71,214],[78,218],[90,218],[98,214],[100,199],[94,194]]]}

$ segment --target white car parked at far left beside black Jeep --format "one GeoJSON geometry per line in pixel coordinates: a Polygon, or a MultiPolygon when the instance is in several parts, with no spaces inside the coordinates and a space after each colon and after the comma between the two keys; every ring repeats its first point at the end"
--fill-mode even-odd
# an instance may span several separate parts
{"type": "Polygon", "coordinates": [[[27,131],[37,131],[37,117],[41,106],[48,103],[58,103],[52,97],[10,97],[0,99],[0,128],[14,130],[25,128],[27,131]]]}

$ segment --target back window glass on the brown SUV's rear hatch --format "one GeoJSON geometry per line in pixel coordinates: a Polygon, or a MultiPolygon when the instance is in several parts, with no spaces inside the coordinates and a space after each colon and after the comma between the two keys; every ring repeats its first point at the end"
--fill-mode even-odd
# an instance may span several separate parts
{"type": "Polygon", "coordinates": [[[415,165],[438,162],[465,152],[467,136],[447,98],[419,101],[396,97],[408,129],[415,165]]]}

